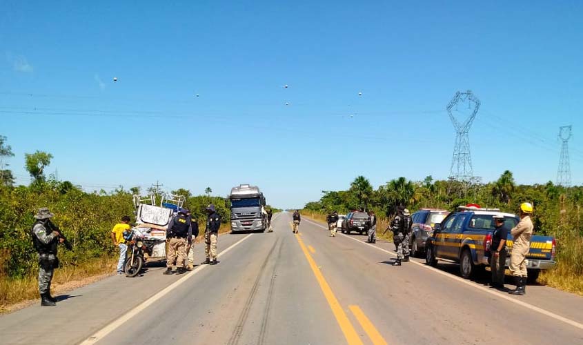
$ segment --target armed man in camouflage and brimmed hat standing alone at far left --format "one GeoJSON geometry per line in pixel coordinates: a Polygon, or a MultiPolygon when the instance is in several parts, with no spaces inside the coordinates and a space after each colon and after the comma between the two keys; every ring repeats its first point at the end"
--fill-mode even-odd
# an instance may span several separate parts
{"type": "Polygon", "coordinates": [[[50,282],[55,268],[59,266],[57,244],[65,242],[61,233],[52,225],[50,219],[55,217],[48,208],[40,208],[34,218],[31,229],[32,244],[39,253],[39,293],[41,306],[55,306],[57,299],[50,295],[50,282]]]}

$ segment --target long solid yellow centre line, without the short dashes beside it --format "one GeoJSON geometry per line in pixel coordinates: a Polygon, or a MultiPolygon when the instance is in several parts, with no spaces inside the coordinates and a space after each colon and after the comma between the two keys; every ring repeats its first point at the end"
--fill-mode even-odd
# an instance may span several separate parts
{"type": "Polygon", "coordinates": [[[312,259],[310,253],[308,253],[308,248],[306,248],[306,245],[304,244],[302,239],[300,239],[299,237],[296,237],[296,239],[297,242],[299,243],[299,246],[302,247],[302,251],[304,252],[304,255],[306,255],[306,259],[308,259],[308,264],[310,264],[310,267],[312,268],[312,271],[316,276],[316,280],[318,281],[318,284],[322,289],[322,293],[324,293],[324,297],[326,297],[326,301],[328,301],[328,304],[330,305],[330,309],[332,309],[332,313],[336,317],[336,321],[338,322],[338,325],[340,326],[342,333],[344,333],[346,342],[348,342],[348,344],[350,345],[352,344],[362,345],[362,341],[360,340],[360,337],[356,333],[353,324],[350,323],[348,316],[346,316],[346,313],[344,313],[344,310],[342,309],[342,306],[340,306],[338,299],[332,292],[330,285],[328,285],[328,282],[326,282],[326,279],[324,279],[324,275],[322,275],[322,272],[319,270],[318,266],[316,265],[316,262],[314,261],[314,259],[312,259]]]}

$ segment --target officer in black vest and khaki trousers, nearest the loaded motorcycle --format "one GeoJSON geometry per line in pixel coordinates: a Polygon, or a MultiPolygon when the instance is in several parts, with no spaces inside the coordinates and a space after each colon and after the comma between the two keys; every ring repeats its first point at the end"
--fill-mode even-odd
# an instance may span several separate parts
{"type": "Polygon", "coordinates": [[[192,236],[192,224],[190,224],[190,213],[186,208],[178,210],[176,217],[172,218],[168,224],[166,241],[168,242],[168,252],[166,253],[165,275],[171,275],[172,266],[176,265],[176,273],[186,272],[184,262],[186,260],[186,248],[190,248],[192,236]]]}

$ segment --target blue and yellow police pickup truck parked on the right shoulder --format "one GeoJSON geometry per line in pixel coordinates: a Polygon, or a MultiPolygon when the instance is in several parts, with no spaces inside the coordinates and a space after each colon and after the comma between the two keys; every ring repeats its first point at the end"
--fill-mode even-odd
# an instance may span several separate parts
{"type": "MultiPolygon", "coordinates": [[[[466,279],[477,270],[488,266],[495,229],[492,216],[497,213],[500,213],[500,210],[476,206],[460,207],[458,212],[451,213],[440,224],[435,224],[435,230],[426,243],[426,263],[437,266],[438,259],[454,262],[460,265],[460,273],[466,279]]],[[[514,228],[520,219],[511,213],[502,214],[504,226],[508,228],[506,241],[508,248],[506,266],[508,266],[513,244],[510,229],[514,228]]],[[[547,270],[555,265],[555,239],[533,235],[526,259],[528,280],[535,282],[541,270],[547,270]]]]}

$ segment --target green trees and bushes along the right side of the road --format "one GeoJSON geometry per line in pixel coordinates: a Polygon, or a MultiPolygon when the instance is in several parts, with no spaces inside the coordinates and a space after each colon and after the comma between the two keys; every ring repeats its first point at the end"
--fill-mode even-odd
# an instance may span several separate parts
{"type": "MultiPolygon", "coordinates": [[[[388,221],[395,216],[397,206],[406,206],[415,212],[419,208],[443,208],[453,211],[457,206],[480,204],[517,213],[522,202],[534,205],[535,234],[557,239],[557,266],[540,275],[538,282],[583,295],[583,226],[581,215],[583,187],[564,188],[552,182],[535,185],[517,185],[512,172],[506,170],[497,181],[468,184],[453,180],[434,181],[431,176],[423,181],[409,181],[399,177],[376,190],[368,179],[357,177],[348,190],[323,191],[319,201],[308,202],[304,215],[324,220],[332,210],[348,213],[350,210],[374,210],[379,217],[377,233],[382,234],[388,221]]],[[[391,231],[384,237],[391,239],[391,231]]]]}

